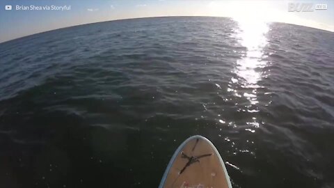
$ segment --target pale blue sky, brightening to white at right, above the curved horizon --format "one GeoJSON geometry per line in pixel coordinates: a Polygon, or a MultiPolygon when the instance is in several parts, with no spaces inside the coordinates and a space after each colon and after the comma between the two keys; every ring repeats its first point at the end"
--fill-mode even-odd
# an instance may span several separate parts
{"type": "Polygon", "coordinates": [[[232,17],[244,22],[285,22],[334,32],[334,0],[1,0],[0,42],[67,26],[115,19],[159,16],[232,17]],[[327,4],[327,10],[289,12],[311,3],[327,4]],[[12,10],[5,10],[11,5],[12,10]],[[290,4],[291,5],[291,4],[290,4]],[[16,6],[70,6],[70,10],[15,10],[16,6]]]}

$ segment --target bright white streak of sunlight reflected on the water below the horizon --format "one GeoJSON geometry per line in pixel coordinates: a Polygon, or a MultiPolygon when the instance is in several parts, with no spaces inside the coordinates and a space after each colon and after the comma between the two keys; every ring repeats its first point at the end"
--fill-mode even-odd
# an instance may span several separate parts
{"type": "MultiPolygon", "coordinates": [[[[268,41],[265,34],[269,31],[269,26],[266,22],[260,22],[259,20],[247,19],[237,20],[239,24],[239,33],[237,38],[242,46],[246,47],[245,56],[237,61],[237,66],[234,72],[237,74],[238,79],[232,77],[231,84],[239,84],[241,88],[251,89],[251,91],[238,93],[237,90],[228,88],[228,91],[234,91],[234,95],[237,97],[245,97],[249,102],[250,108],[258,103],[257,100],[257,88],[262,88],[259,85],[259,81],[264,77],[261,72],[262,68],[267,65],[267,61],[262,60],[263,49],[267,45],[268,41]]],[[[244,110],[243,110],[244,111],[244,110]]],[[[258,112],[258,110],[248,109],[248,112],[258,112]]],[[[252,125],[254,128],[259,127],[259,123],[256,122],[256,118],[253,118],[247,125],[252,125]]],[[[246,129],[250,132],[255,130],[246,129]]]]}

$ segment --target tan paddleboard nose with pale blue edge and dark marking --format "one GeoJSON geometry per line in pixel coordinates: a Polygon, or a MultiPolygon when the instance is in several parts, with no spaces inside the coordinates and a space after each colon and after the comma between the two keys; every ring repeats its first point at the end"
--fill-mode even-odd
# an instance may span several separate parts
{"type": "Polygon", "coordinates": [[[203,136],[191,136],[175,151],[159,188],[232,188],[218,150],[203,136]]]}

